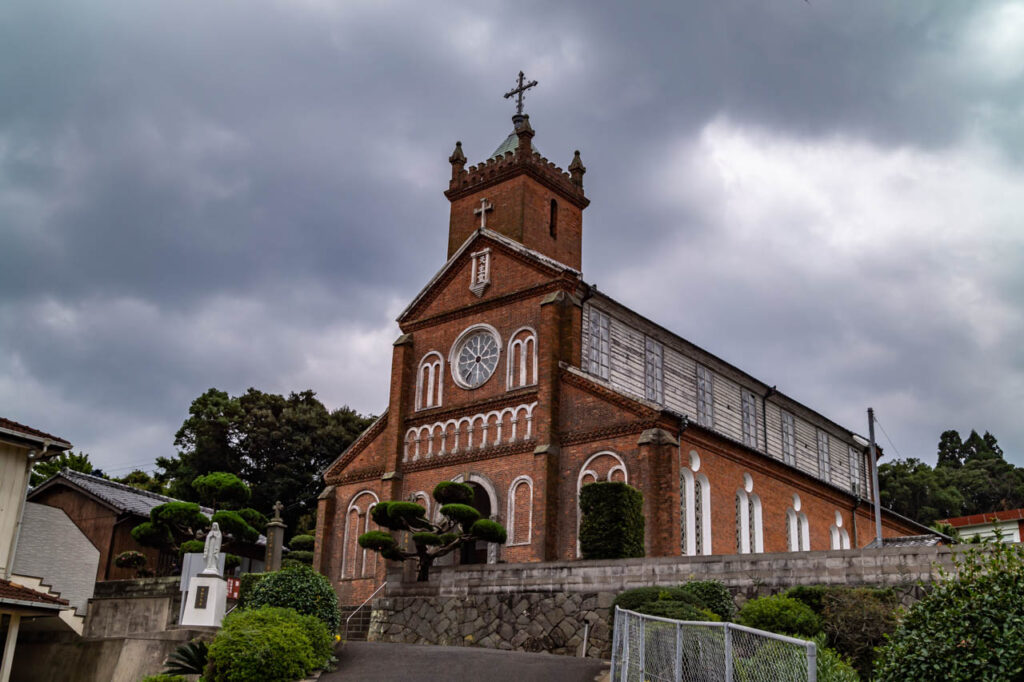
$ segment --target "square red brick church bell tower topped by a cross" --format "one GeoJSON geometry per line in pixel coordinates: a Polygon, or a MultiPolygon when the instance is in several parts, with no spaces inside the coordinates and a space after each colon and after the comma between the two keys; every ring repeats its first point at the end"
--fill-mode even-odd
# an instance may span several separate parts
{"type": "Polygon", "coordinates": [[[587,172],[577,152],[568,172],[542,157],[532,144],[534,128],[522,113],[525,91],[537,81],[523,82],[505,97],[516,98],[512,133],[481,164],[466,168],[462,142],[449,158],[452,180],[444,193],[452,202],[447,257],[475,229],[487,228],[519,242],[577,270],[583,252],[583,210],[587,172]]]}

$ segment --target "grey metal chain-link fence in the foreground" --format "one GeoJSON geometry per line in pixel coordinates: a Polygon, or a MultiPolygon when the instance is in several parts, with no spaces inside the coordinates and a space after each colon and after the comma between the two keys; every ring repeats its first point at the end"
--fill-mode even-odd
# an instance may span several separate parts
{"type": "Polygon", "coordinates": [[[816,682],[814,642],[732,623],[693,623],[615,607],[612,682],[816,682]]]}

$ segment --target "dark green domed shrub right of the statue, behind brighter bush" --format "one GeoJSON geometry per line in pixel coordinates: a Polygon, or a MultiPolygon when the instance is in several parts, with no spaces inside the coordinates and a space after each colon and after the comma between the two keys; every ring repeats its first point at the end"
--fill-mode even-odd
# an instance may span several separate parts
{"type": "Polygon", "coordinates": [[[284,606],[299,613],[315,615],[335,633],[341,623],[338,596],[330,581],[302,565],[288,566],[270,573],[256,584],[246,597],[247,608],[284,606]]]}

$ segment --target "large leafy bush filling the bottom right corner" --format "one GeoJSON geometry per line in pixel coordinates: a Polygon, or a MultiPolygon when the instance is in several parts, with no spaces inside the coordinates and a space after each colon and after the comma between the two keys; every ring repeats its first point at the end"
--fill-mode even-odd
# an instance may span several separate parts
{"type": "Polygon", "coordinates": [[[1024,678],[1024,549],[995,543],[954,559],[879,651],[879,680],[1024,678]]]}

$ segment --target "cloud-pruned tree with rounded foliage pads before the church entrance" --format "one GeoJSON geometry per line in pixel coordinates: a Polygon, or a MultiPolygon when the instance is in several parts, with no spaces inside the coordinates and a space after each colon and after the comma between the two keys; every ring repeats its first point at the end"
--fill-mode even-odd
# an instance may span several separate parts
{"type": "Polygon", "coordinates": [[[443,520],[432,523],[426,510],[415,502],[389,500],[374,507],[374,522],[388,530],[409,534],[412,550],[400,549],[394,536],[384,530],[370,530],[358,538],[359,547],[380,553],[385,559],[406,561],[416,559],[417,581],[426,582],[430,567],[438,558],[451,554],[463,545],[483,541],[505,544],[505,526],[497,521],[480,518],[480,512],[470,503],[473,488],[465,483],[441,481],[434,486],[434,500],[441,505],[443,520]]]}

